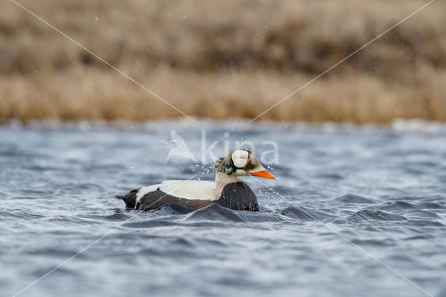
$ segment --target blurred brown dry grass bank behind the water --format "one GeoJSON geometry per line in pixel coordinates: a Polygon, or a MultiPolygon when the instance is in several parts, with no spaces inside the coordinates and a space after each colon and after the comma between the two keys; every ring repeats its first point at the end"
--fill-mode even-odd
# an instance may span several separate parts
{"type": "MultiPolygon", "coordinates": [[[[253,119],[426,1],[23,0],[180,111],[253,119]]],[[[433,2],[259,120],[446,121],[433,2]]],[[[22,8],[0,3],[0,121],[183,117],[22,8]]]]}

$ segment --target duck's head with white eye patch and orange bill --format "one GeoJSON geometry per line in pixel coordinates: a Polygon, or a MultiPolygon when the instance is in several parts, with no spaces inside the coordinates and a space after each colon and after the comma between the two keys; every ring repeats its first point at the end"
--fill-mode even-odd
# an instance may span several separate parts
{"type": "Polygon", "coordinates": [[[232,151],[225,158],[217,160],[215,165],[217,172],[225,172],[226,174],[235,174],[236,176],[252,175],[263,178],[274,178],[268,170],[266,170],[259,161],[256,160],[251,152],[244,149],[232,151]]]}

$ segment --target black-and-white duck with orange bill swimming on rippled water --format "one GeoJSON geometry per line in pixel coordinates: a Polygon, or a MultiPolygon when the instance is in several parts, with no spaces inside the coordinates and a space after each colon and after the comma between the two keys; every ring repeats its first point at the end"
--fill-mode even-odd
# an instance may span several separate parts
{"type": "Polygon", "coordinates": [[[239,176],[276,179],[245,149],[231,151],[215,161],[215,181],[163,181],[116,195],[126,208],[148,211],[166,204],[180,204],[191,211],[219,204],[234,211],[259,211],[256,195],[239,176]]]}

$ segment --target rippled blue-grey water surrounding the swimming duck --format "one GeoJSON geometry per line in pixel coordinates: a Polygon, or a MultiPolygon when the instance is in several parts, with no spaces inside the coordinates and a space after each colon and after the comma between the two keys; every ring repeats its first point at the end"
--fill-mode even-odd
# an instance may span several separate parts
{"type": "Polygon", "coordinates": [[[426,296],[390,268],[446,296],[444,126],[11,123],[0,166],[1,296],[105,235],[20,296],[426,296]],[[164,165],[171,129],[196,156],[201,130],[217,156],[224,141],[258,156],[277,142],[277,181],[244,178],[261,213],[125,211],[113,195],[213,179],[210,164],[164,165]]]}

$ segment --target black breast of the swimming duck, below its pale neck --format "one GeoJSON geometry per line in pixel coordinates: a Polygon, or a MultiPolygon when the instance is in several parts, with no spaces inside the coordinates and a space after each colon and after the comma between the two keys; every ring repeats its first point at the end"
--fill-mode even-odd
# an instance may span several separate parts
{"type": "Polygon", "coordinates": [[[259,211],[256,195],[243,181],[225,185],[217,204],[234,211],[259,211]]]}

